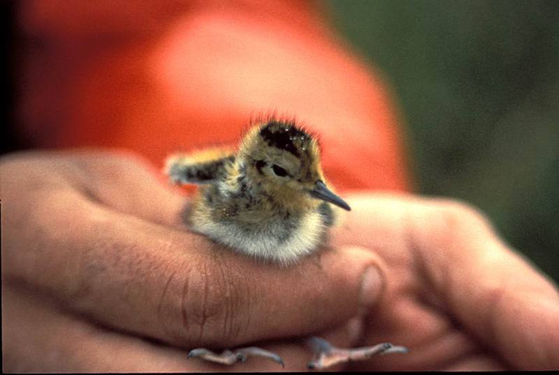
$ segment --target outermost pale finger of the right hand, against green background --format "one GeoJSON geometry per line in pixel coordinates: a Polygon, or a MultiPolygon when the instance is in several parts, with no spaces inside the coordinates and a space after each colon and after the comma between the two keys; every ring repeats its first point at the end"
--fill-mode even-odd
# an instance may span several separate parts
{"type": "Polygon", "coordinates": [[[549,279],[464,205],[418,206],[413,225],[420,266],[451,314],[516,368],[559,366],[559,297],[549,279]]]}

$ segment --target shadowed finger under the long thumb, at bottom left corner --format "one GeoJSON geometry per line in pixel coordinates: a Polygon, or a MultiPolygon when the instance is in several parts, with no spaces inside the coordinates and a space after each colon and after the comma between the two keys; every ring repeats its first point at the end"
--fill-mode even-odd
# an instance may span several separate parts
{"type": "MultiPolygon", "coordinates": [[[[231,367],[190,360],[187,351],[113,332],[65,314],[22,286],[2,290],[5,372],[224,372],[280,371],[259,358],[231,367]]],[[[285,370],[305,369],[307,351],[290,342],[264,345],[286,359],[285,370]]]]}

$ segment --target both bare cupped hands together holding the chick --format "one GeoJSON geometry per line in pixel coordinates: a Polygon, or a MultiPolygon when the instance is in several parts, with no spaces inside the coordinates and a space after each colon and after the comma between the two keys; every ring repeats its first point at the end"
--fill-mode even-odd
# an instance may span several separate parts
{"type": "Polygon", "coordinates": [[[136,156],[30,152],[0,170],[5,372],[280,369],[186,358],[254,342],[303,370],[307,334],[410,348],[353,369],[559,368],[556,287],[463,203],[344,196],[330,246],[279,267],[190,233],[188,198],[136,156]]]}

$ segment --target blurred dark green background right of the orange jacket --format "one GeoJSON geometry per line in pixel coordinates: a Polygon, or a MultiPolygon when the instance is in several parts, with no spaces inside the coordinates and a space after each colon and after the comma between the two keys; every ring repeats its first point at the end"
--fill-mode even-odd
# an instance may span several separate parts
{"type": "Polygon", "coordinates": [[[326,1],[389,82],[419,193],[466,200],[559,281],[559,1],[326,1]]]}

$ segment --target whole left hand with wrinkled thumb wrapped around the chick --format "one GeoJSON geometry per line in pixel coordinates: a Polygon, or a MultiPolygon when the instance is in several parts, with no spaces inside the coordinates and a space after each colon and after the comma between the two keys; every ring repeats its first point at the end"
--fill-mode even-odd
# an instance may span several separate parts
{"type": "Polygon", "coordinates": [[[377,264],[364,249],[285,268],[189,233],[187,199],[138,159],[34,152],[0,168],[6,372],[278,370],[188,360],[187,348],[282,338],[259,346],[305,369],[310,353],[289,337],[351,346],[351,318],[379,296],[374,272],[361,286],[377,264]]]}

